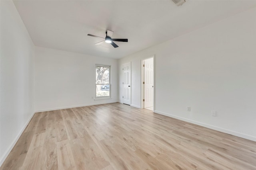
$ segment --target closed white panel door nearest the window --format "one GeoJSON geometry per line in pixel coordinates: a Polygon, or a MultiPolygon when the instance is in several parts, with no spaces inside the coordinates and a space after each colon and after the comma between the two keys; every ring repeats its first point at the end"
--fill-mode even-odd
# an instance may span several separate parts
{"type": "Polygon", "coordinates": [[[123,65],[123,103],[131,105],[131,63],[123,65]]]}

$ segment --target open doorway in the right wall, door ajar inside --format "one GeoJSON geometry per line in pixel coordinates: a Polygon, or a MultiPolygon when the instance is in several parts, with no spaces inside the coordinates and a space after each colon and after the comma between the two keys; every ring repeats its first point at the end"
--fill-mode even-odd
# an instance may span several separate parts
{"type": "Polygon", "coordinates": [[[154,57],[142,60],[142,108],[154,111],[154,57]]]}

